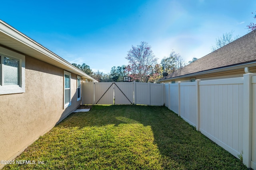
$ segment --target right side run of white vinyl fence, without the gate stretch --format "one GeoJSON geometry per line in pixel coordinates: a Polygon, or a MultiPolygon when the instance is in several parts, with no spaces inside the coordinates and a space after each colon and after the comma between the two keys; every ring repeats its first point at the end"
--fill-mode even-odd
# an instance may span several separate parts
{"type": "Polygon", "coordinates": [[[164,84],[165,106],[256,169],[256,74],[164,84]]]}

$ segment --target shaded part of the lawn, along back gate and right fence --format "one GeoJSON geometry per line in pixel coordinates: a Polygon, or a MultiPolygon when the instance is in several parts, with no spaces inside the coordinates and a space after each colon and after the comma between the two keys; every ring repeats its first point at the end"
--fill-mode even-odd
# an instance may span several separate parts
{"type": "MultiPolygon", "coordinates": [[[[210,141],[178,115],[162,106],[93,106],[73,113],[57,127],[150,126],[162,169],[247,169],[240,160],[210,141]]],[[[143,169],[143,167],[142,167],[143,169]]]]}

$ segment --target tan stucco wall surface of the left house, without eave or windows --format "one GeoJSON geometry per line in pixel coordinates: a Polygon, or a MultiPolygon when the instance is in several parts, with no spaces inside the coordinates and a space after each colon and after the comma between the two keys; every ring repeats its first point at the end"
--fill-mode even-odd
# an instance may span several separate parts
{"type": "Polygon", "coordinates": [[[64,70],[26,56],[26,92],[0,95],[0,160],[11,160],[80,106],[76,74],[72,105],[63,107],[64,70]]]}

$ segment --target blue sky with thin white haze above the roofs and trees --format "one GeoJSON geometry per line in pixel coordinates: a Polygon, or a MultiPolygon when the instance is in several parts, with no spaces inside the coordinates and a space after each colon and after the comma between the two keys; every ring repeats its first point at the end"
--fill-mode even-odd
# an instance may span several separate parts
{"type": "Polygon", "coordinates": [[[248,33],[255,11],[255,0],[6,0],[0,19],[66,61],[108,73],[141,41],[158,63],[172,49],[201,58],[223,33],[248,33]]]}

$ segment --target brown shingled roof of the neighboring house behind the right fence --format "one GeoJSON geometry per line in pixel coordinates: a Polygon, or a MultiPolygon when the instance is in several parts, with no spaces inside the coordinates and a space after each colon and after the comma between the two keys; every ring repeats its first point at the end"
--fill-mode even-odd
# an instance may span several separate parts
{"type": "Polygon", "coordinates": [[[256,63],[256,30],[170,73],[159,81],[242,68],[256,63]]]}

